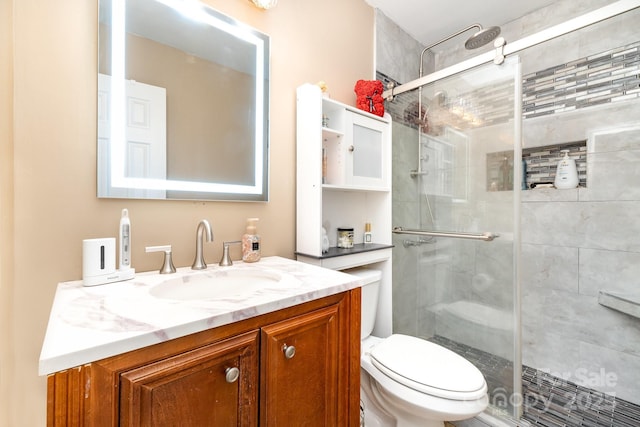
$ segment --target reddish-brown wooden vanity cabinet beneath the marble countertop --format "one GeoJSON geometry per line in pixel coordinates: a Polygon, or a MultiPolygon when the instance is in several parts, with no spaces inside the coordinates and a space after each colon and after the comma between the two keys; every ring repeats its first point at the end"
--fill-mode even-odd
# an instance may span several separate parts
{"type": "Polygon", "coordinates": [[[52,374],[47,425],[356,426],[359,387],[354,289],[52,374]]]}

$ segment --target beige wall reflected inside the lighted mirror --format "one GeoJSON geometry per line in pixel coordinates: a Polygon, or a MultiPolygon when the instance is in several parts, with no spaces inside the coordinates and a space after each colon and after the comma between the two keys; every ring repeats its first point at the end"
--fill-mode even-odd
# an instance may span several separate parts
{"type": "MultiPolygon", "coordinates": [[[[100,44],[109,43],[103,27],[100,44]]],[[[253,184],[255,128],[241,106],[254,100],[254,77],[137,35],[126,44],[125,77],[166,90],[167,178],[253,184]]],[[[111,58],[99,57],[99,71],[110,74],[111,58]]]]}

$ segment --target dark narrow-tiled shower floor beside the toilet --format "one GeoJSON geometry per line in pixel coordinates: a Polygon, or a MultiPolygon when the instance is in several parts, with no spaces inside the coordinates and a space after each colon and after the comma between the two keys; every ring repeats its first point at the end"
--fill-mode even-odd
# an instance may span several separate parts
{"type": "MultiPolygon", "coordinates": [[[[506,359],[441,336],[429,341],[446,347],[473,363],[485,376],[489,401],[502,402],[510,387],[513,364],[506,359]]],[[[617,399],[546,372],[523,366],[523,419],[545,427],[639,427],[640,405],[617,399]]]]}

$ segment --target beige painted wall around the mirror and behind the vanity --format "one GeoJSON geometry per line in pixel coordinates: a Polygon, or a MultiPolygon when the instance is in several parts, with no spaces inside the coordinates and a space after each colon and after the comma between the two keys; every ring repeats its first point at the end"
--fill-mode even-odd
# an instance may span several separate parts
{"type": "Polygon", "coordinates": [[[208,0],[272,36],[270,202],[99,200],[96,3],[0,2],[0,426],[45,423],[40,347],[56,284],[81,277],[82,239],[115,236],[126,207],[134,267],[158,268],[159,256],[144,253],[158,244],[173,245],[175,264],[186,266],[199,219],[212,223],[205,256],[216,262],[222,241],[258,216],[264,255],[293,257],[295,88],[325,80],[333,98],[352,104],[356,80],[373,76],[373,10],[362,0],[288,0],[268,12],[208,0]]]}

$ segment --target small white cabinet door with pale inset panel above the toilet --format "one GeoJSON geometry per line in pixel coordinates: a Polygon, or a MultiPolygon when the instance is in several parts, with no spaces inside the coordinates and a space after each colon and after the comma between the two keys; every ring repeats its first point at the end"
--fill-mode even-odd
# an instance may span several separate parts
{"type": "Polygon", "coordinates": [[[389,186],[389,125],[349,112],[346,126],[347,180],[354,186],[389,186]]]}

